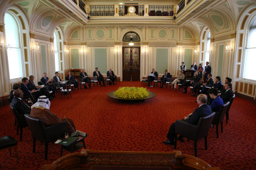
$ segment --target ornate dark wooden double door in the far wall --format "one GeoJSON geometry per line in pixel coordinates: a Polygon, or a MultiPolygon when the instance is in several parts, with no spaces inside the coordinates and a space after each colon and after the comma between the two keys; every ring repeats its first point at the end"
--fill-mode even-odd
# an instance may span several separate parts
{"type": "Polygon", "coordinates": [[[123,81],[139,81],[140,47],[123,47],[123,81]]]}

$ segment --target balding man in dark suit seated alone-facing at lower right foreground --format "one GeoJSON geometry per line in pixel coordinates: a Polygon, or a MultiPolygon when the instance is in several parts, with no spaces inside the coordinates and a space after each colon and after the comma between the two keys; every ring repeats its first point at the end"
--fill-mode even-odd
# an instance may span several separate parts
{"type": "MultiPolygon", "coordinates": [[[[182,121],[186,121],[191,125],[197,125],[199,119],[203,116],[207,116],[212,113],[209,105],[206,104],[207,96],[205,94],[199,94],[197,97],[197,104],[199,104],[199,108],[197,108],[193,113],[188,114],[187,117],[182,119],[182,121]]],[[[171,124],[169,132],[167,134],[167,141],[163,141],[164,144],[174,145],[174,132],[175,132],[175,124],[176,122],[171,124]]],[[[183,142],[183,137],[179,136],[178,139],[183,142]]]]}

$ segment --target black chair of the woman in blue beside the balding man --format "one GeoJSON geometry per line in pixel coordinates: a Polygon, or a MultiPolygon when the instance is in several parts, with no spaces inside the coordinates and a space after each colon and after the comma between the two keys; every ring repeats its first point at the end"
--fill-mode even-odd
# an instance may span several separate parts
{"type": "Polygon", "coordinates": [[[223,123],[222,122],[223,122],[225,114],[226,114],[226,112],[228,110],[228,105],[229,105],[229,101],[226,104],[223,104],[220,107],[219,112],[216,112],[216,114],[214,116],[212,124],[216,125],[217,138],[219,138],[219,129],[218,129],[219,125],[220,125],[221,132],[223,132],[223,123]]]}

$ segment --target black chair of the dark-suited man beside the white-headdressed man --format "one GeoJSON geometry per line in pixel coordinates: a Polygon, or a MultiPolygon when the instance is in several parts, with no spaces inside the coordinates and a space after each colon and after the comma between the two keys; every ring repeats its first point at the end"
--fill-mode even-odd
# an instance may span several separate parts
{"type": "Polygon", "coordinates": [[[19,129],[20,129],[20,141],[21,141],[22,140],[22,129],[28,126],[27,121],[25,120],[24,114],[19,114],[18,111],[16,110],[16,108],[11,106],[11,103],[10,103],[10,108],[14,114],[14,118],[17,123],[17,135],[19,134],[19,129]]]}

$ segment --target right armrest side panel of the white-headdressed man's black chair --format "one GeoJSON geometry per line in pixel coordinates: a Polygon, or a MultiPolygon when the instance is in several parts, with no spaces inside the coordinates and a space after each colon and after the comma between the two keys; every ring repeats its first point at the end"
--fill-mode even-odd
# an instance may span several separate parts
{"type": "Polygon", "coordinates": [[[65,132],[68,132],[66,121],[63,121],[62,123],[57,125],[46,127],[44,129],[46,142],[50,142],[58,139],[59,137],[63,137],[65,132]]]}

